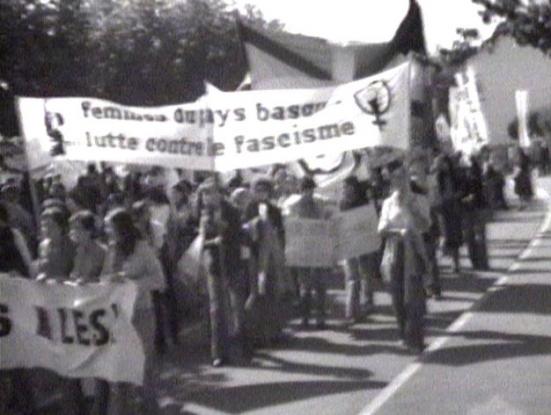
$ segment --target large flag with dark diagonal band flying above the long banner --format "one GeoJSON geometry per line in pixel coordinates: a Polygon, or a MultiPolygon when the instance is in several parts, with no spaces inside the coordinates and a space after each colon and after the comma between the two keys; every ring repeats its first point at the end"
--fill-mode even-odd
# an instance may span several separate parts
{"type": "Polygon", "coordinates": [[[308,88],[361,79],[380,72],[410,51],[425,53],[421,10],[409,10],[384,43],[331,44],[325,39],[253,29],[238,21],[253,89],[308,88]]]}

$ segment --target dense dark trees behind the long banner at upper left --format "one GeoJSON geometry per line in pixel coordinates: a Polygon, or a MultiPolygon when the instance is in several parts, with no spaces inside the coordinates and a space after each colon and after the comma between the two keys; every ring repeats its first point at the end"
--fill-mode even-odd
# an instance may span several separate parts
{"type": "Polygon", "coordinates": [[[231,90],[246,72],[235,17],[223,0],[1,1],[0,131],[16,132],[16,95],[162,105],[196,99],[204,81],[231,90]]]}

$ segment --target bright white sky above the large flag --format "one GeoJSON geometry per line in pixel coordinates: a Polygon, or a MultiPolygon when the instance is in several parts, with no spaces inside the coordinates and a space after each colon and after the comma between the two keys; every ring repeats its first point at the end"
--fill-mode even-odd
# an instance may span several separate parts
{"type": "MultiPolygon", "coordinates": [[[[337,43],[389,40],[407,12],[408,0],[235,0],[257,6],[267,19],[279,19],[286,30],[337,43]]],[[[429,52],[450,47],[457,28],[478,28],[491,35],[471,0],[417,0],[423,13],[429,52]]]]}

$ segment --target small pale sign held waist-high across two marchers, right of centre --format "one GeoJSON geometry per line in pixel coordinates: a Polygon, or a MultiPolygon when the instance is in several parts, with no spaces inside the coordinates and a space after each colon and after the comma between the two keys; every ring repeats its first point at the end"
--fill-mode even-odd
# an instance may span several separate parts
{"type": "Polygon", "coordinates": [[[331,267],[375,252],[381,245],[373,204],[337,213],[329,220],[285,217],[288,266],[331,267]]]}

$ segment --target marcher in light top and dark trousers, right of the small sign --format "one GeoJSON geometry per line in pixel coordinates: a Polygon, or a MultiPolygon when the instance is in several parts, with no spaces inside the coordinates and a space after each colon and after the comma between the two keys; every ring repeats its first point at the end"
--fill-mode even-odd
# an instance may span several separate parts
{"type": "Polygon", "coordinates": [[[421,195],[414,194],[401,161],[392,162],[389,175],[393,192],[385,199],[379,220],[379,233],[385,239],[381,272],[390,282],[392,305],[399,335],[415,351],[424,349],[423,318],[425,293],[423,273],[428,256],[423,232],[430,226],[430,212],[421,195]]]}

